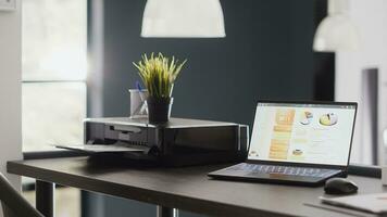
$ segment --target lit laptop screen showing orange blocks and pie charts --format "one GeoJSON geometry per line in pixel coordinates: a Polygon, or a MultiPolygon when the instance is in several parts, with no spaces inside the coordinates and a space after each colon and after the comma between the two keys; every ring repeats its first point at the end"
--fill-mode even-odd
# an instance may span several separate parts
{"type": "Polygon", "coordinates": [[[346,166],[354,104],[259,103],[248,159],[346,166]]]}

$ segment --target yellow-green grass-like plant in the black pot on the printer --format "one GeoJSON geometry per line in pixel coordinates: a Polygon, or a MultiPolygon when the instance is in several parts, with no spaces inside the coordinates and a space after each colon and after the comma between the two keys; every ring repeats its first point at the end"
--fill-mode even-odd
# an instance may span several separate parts
{"type": "Polygon", "coordinates": [[[175,56],[168,59],[162,53],[152,53],[150,58],[143,54],[141,61],[133,64],[138,69],[149,95],[160,99],[172,97],[174,82],[186,62],[187,60],[179,63],[175,56]]]}

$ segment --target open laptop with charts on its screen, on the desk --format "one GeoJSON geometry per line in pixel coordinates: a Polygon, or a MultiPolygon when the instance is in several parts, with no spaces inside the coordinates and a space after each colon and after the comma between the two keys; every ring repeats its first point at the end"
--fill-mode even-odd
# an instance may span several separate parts
{"type": "Polygon", "coordinates": [[[248,157],[216,179],[321,186],[347,176],[357,103],[259,102],[248,157]]]}

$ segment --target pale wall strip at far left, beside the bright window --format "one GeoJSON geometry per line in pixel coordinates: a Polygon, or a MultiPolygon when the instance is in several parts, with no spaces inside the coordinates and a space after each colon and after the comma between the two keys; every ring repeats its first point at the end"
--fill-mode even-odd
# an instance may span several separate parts
{"type": "Polygon", "coordinates": [[[20,178],[7,175],[5,163],[22,159],[20,9],[17,5],[16,11],[0,11],[0,173],[15,188],[21,187],[20,178]]]}

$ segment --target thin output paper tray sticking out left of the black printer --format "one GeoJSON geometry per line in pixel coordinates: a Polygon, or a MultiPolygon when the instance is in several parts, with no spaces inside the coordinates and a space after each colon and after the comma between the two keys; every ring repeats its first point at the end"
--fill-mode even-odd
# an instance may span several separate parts
{"type": "Polygon", "coordinates": [[[148,148],[130,148],[116,144],[80,144],[80,145],[62,145],[57,144],[58,149],[72,150],[76,152],[97,154],[97,153],[127,153],[127,152],[146,152],[148,148]]]}

